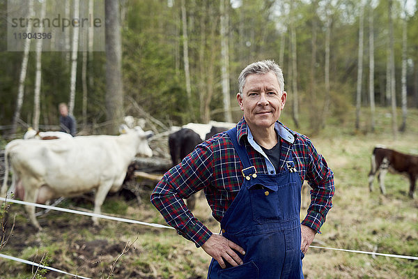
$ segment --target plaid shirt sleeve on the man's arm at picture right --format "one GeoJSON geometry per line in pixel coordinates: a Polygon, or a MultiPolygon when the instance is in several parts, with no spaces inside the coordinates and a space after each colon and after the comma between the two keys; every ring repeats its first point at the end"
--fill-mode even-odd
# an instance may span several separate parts
{"type": "Polygon", "coordinates": [[[302,221],[302,225],[311,227],[320,233],[320,227],[325,222],[328,211],[332,208],[332,197],[335,191],[334,173],[310,140],[307,140],[306,148],[308,156],[305,179],[312,190],[311,204],[309,204],[308,213],[302,221]]]}

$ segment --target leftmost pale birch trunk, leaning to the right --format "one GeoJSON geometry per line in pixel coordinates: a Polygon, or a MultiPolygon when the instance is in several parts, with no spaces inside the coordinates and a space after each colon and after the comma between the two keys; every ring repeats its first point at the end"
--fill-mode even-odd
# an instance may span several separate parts
{"type": "MultiPolygon", "coordinates": [[[[28,2],[29,18],[33,17],[33,1],[28,2]]],[[[32,24],[27,24],[26,33],[31,33],[32,24]]],[[[26,80],[26,70],[28,68],[29,50],[31,49],[31,40],[24,40],[23,45],[23,59],[22,68],[20,69],[19,87],[17,89],[17,101],[15,115],[13,116],[13,124],[11,133],[14,135],[17,130],[17,122],[20,120],[20,110],[22,110],[22,103],[24,97],[24,81],[26,80]]]]}

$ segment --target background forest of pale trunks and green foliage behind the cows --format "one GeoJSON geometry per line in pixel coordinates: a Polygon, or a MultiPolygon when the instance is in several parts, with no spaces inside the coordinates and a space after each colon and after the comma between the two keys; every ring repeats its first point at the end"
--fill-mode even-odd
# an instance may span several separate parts
{"type": "MultiPolygon", "coordinates": [[[[33,14],[41,2],[45,13],[55,1],[33,1],[33,14]]],[[[88,1],[62,2],[75,15],[75,3],[88,1]]],[[[84,133],[116,133],[124,115],[167,126],[238,121],[238,75],[261,59],[283,68],[288,125],[307,123],[309,134],[348,114],[353,130],[372,132],[375,107],[386,107],[396,135],[408,129],[408,108],[418,107],[416,1],[91,2],[106,17],[106,50],[82,48],[71,29],[68,50],[36,50],[35,40],[29,51],[9,50],[8,2],[0,2],[2,135],[56,128],[61,102],[84,133]],[[371,112],[366,127],[361,110],[371,112]]]]}

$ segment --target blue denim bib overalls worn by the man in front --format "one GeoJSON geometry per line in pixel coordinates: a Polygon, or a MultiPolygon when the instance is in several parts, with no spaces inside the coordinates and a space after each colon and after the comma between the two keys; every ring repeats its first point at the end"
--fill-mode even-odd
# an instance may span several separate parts
{"type": "Polygon", "coordinates": [[[225,261],[226,269],[212,259],[208,278],[303,278],[304,255],[300,250],[302,183],[293,158],[286,160],[288,169],[279,174],[257,174],[245,146],[238,143],[236,131],[233,128],[227,133],[244,167],[242,174],[245,179],[222,218],[221,229],[226,239],[245,250],[245,255],[236,252],[243,264],[233,267],[225,261]]]}

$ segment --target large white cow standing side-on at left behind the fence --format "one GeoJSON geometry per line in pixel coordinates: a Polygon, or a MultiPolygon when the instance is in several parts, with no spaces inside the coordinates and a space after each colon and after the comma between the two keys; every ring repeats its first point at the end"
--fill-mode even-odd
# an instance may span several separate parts
{"type": "MultiPolygon", "coordinates": [[[[139,127],[118,136],[91,135],[72,140],[13,140],[6,145],[6,174],[1,196],[7,192],[8,160],[13,186],[24,201],[44,203],[56,197],[71,197],[95,190],[94,213],[109,191],[122,186],[127,166],[138,155],[153,156],[148,146],[152,132],[139,127]],[[22,189],[22,190],[20,190],[22,189]],[[24,195],[22,195],[22,192],[24,195]]],[[[26,206],[31,223],[40,228],[35,208],[26,206]]],[[[93,217],[98,225],[98,218],[93,217]]]]}

